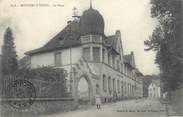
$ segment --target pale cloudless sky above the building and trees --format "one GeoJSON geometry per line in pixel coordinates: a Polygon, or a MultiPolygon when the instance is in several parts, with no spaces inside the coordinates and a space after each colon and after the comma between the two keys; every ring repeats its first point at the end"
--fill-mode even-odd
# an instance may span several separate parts
{"type": "MultiPolygon", "coordinates": [[[[81,15],[89,6],[90,0],[0,0],[0,46],[5,29],[11,27],[20,59],[26,51],[43,46],[60,32],[72,20],[74,7],[81,15]],[[20,4],[38,3],[42,6],[20,7],[20,4]]],[[[137,68],[145,75],[158,74],[155,52],[144,51],[144,41],[157,24],[151,18],[150,1],[92,0],[92,6],[105,20],[106,35],[121,31],[124,54],[134,51],[137,68]]]]}

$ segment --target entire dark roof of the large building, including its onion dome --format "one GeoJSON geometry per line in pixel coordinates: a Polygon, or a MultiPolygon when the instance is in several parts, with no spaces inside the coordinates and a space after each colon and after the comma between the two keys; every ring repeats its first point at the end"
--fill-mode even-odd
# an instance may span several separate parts
{"type": "Polygon", "coordinates": [[[53,37],[43,47],[26,52],[26,55],[33,55],[43,52],[49,52],[58,49],[69,48],[81,45],[80,37],[86,34],[102,35],[104,44],[107,47],[112,47],[114,52],[117,52],[117,37],[116,35],[105,36],[104,34],[104,19],[102,15],[92,7],[84,11],[80,17],[80,21],[74,20],[70,22],[61,32],[53,37]]]}

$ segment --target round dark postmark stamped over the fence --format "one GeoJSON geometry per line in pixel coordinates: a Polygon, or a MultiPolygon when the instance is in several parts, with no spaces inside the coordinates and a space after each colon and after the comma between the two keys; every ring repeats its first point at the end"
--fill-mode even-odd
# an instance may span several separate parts
{"type": "Polygon", "coordinates": [[[34,103],[36,90],[31,82],[25,79],[18,79],[8,85],[7,97],[10,106],[24,110],[34,103]]]}

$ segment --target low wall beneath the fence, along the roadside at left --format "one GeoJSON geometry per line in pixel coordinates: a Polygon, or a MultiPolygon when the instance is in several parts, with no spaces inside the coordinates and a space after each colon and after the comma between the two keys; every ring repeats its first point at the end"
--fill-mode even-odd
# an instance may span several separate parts
{"type": "Polygon", "coordinates": [[[78,104],[72,98],[37,99],[28,109],[13,108],[7,101],[1,101],[1,116],[3,117],[36,117],[51,115],[77,109],[78,104]]]}

